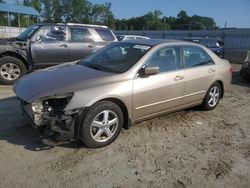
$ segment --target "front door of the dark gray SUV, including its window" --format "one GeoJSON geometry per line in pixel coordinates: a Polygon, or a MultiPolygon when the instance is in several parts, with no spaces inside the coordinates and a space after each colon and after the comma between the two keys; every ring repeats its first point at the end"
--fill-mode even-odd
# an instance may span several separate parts
{"type": "Polygon", "coordinates": [[[66,26],[43,26],[32,37],[31,58],[34,65],[47,66],[69,61],[66,26]]]}

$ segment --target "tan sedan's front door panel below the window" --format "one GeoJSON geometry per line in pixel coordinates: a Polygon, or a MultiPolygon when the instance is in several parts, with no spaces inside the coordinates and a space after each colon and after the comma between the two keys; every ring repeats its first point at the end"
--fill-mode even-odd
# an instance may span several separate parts
{"type": "Polygon", "coordinates": [[[175,81],[175,77],[182,74],[183,71],[178,70],[147,78],[135,78],[133,83],[135,121],[183,105],[184,81],[175,81]]]}

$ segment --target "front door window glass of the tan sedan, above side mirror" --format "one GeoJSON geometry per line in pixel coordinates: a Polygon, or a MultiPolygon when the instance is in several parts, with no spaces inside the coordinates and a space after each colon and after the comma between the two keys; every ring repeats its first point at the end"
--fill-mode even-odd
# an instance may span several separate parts
{"type": "Polygon", "coordinates": [[[147,66],[159,67],[160,72],[180,69],[180,52],[178,47],[164,47],[157,50],[147,61],[147,66]]]}

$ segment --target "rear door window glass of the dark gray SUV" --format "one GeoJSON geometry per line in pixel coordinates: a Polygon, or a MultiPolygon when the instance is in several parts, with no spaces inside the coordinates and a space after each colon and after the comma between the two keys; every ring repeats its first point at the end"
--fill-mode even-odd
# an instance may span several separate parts
{"type": "Polygon", "coordinates": [[[70,33],[72,42],[92,42],[91,35],[86,28],[71,27],[70,33]]]}

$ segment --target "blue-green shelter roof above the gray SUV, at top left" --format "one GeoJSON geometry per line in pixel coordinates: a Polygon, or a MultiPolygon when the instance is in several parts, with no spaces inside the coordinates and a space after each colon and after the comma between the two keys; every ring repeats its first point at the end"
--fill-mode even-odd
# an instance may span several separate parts
{"type": "Polygon", "coordinates": [[[39,16],[39,13],[33,7],[12,5],[7,3],[0,3],[0,12],[13,12],[19,14],[39,16]]]}

